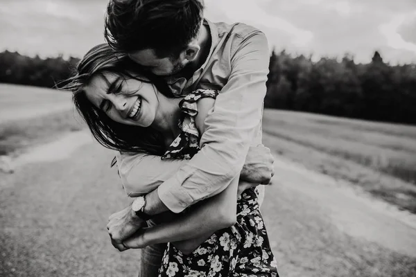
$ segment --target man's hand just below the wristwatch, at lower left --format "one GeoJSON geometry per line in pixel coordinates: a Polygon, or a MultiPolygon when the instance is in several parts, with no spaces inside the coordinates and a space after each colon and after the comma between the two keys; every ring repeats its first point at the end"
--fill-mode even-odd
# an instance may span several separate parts
{"type": "Polygon", "coordinates": [[[108,218],[107,230],[111,238],[111,243],[119,251],[125,251],[128,247],[125,247],[123,240],[129,238],[137,230],[146,225],[144,220],[141,220],[135,212],[132,211],[132,207],[113,213],[108,218]]]}

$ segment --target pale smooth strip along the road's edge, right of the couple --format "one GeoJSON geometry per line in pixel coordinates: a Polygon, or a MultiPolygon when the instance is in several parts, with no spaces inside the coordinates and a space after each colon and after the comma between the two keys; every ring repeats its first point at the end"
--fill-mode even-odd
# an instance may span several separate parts
{"type": "Polygon", "coordinates": [[[330,217],[339,231],[416,258],[416,215],[282,157],[275,170],[275,185],[318,203],[322,216],[330,217]]]}

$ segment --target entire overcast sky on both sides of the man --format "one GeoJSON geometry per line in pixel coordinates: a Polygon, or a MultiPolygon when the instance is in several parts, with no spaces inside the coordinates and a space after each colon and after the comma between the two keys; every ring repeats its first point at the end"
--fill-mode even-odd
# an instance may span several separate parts
{"type": "MultiPolygon", "coordinates": [[[[104,42],[107,0],[0,0],[0,51],[81,57],[104,42]]],[[[205,0],[211,21],[256,26],[280,51],[416,62],[416,0],[205,0]]]]}

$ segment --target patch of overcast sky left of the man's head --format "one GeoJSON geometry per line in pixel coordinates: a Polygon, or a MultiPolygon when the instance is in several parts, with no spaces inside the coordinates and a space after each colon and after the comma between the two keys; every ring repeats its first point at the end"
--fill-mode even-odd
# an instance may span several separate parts
{"type": "Polygon", "coordinates": [[[2,0],[0,48],[42,57],[81,56],[103,39],[106,1],[2,0]]]}

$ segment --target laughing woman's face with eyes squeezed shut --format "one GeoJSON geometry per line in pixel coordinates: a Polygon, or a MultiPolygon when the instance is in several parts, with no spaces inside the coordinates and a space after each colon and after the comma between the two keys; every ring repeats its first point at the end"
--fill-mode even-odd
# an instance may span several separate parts
{"type": "Polygon", "coordinates": [[[126,125],[149,127],[159,106],[153,84],[113,73],[95,75],[85,93],[108,117],[126,125]]]}

